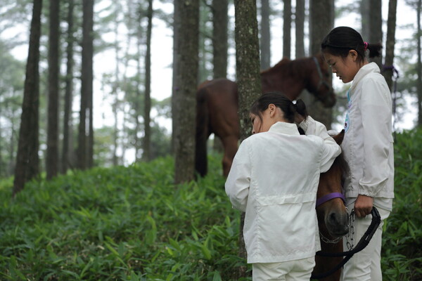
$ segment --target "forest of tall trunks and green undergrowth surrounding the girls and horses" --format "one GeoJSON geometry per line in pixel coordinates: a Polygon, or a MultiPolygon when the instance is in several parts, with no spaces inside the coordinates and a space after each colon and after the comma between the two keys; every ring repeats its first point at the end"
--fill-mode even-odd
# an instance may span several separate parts
{"type": "MultiPolygon", "coordinates": [[[[0,280],[251,280],[214,134],[196,171],[198,86],[236,81],[242,141],[262,72],[339,25],[383,45],[392,94],[383,279],[421,280],[421,0],[2,0],[0,280]]],[[[333,106],[300,98],[340,131],[328,76],[333,106]]]]}

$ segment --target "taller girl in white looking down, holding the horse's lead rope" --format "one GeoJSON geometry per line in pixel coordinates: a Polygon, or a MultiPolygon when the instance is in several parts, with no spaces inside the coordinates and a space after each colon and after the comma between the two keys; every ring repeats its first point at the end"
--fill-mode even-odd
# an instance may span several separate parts
{"type": "MultiPolygon", "coordinates": [[[[343,185],[347,207],[354,211],[354,241],[359,241],[371,223],[376,206],[383,221],[392,209],[394,197],[394,155],[390,89],[376,63],[369,57],[381,55],[381,44],[365,42],[350,27],[335,27],[324,38],[321,50],[333,73],[343,83],[352,81],[347,91],[345,137],[341,145],[350,167],[343,185]]],[[[383,222],[368,246],[343,268],[343,281],[382,280],[381,236],[383,222]]],[[[343,239],[345,249],[346,239],[343,239]]]]}

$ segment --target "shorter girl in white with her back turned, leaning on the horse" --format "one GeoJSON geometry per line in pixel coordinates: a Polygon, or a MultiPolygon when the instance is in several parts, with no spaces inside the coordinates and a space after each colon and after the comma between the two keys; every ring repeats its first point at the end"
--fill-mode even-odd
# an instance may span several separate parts
{"type": "Polygon", "coordinates": [[[233,207],[245,211],[252,280],[307,280],[319,251],[316,190],[340,146],[307,116],[305,103],[264,93],[250,109],[252,136],[239,146],[226,180],[233,207]],[[300,135],[298,126],[305,131],[300,135]]]}

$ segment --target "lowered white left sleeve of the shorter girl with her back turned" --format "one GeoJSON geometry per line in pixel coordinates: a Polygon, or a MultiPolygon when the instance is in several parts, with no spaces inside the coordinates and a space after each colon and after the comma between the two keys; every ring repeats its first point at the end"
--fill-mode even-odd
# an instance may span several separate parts
{"type": "Polygon", "coordinates": [[[243,141],[231,164],[226,179],[226,194],[234,209],[246,211],[250,186],[250,153],[247,140],[243,141]]]}

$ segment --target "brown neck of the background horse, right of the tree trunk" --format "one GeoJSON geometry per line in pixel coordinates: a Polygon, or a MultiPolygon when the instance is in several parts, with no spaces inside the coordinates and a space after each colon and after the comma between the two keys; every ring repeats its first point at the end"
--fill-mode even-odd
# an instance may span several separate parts
{"type": "Polygon", "coordinates": [[[309,65],[306,58],[278,63],[261,73],[262,92],[281,91],[290,100],[298,98],[308,84],[309,65]]]}

